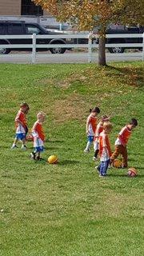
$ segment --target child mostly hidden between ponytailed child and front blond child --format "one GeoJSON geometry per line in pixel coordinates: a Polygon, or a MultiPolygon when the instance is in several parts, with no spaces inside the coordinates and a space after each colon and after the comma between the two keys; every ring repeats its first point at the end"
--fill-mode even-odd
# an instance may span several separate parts
{"type": "Polygon", "coordinates": [[[99,144],[98,144],[98,138],[99,138],[99,134],[102,133],[103,130],[103,123],[104,122],[108,122],[110,120],[109,117],[107,117],[106,115],[104,115],[102,117],[102,119],[100,120],[100,122],[98,122],[98,126],[96,129],[96,132],[94,134],[94,161],[97,161],[98,159],[98,152],[99,152],[99,144]]]}

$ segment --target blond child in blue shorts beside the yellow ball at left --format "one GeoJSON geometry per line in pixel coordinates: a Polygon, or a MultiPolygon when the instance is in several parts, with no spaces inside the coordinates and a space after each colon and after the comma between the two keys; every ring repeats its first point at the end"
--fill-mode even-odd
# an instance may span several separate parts
{"type": "Polygon", "coordinates": [[[37,121],[34,122],[32,135],[34,138],[34,152],[30,154],[30,157],[34,160],[41,160],[41,152],[44,150],[45,134],[43,132],[42,123],[45,121],[46,114],[40,111],[37,114],[37,121]]]}

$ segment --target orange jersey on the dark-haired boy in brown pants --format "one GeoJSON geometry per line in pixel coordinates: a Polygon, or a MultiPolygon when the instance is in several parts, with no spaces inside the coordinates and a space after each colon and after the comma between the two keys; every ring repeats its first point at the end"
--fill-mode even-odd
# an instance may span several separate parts
{"type": "Polygon", "coordinates": [[[116,141],[116,145],[122,144],[123,146],[126,146],[129,138],[130,138],[131,130],[129,129],[128,126],[125,126],[122,128],[120,133],[118,134],[118,139],[116,141]],[[120,143],[118,143],[120,142],[120,143]]]}

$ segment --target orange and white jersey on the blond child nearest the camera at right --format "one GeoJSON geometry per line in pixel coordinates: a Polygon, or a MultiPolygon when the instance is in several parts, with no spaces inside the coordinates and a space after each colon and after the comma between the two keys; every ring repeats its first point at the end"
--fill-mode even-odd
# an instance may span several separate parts
{"type": "Polygon", "coordinates": [[[103,132],[99,135],[99,154],[102,157],[103,150],[106,149],[107,156],[110,158],[111,156],[111,149],[110,149],[110,141],[107,134],[103,132]]]}

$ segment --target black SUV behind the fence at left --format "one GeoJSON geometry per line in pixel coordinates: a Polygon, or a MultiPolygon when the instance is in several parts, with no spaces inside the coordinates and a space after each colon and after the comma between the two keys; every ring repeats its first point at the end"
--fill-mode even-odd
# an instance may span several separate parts
{"type": "MultiPolygon", "coordinates": [[[[17,21],[0,21],[0,35],[26,35],[26,34],[61,34],[61,33],[55,33],[48,30],[45,30],[42,26],[40,26],[37,23],[28,23],[28,22],[17,22],[17,21]]],[[[54,38],[54,39],[46,39],[46,38],[38,38],[37,44],[65,44],[72,42],[71,39],[62,39],[62,38],[54,38]]],[[[2,44],[32,44],[32,39],[28,38],[22,38],[22,39],[0,39],[0,45],[2,44]]],[[[9,54],[10,50],[12,49],[6,49],[5,47],[0,47],[0,54],[9,54]]],[[[31,48],[18,48],[13,49],[17,51],[31,51],[31,48]]],[[[50,50],[52,54],[64,54],[66,51],[66,48],[58,48],[55,46],[55,48],[38,48],[37,51],[46,51],[50,50]]],[[[70,50],[70,48],[69,48],[70,50]]]]}

